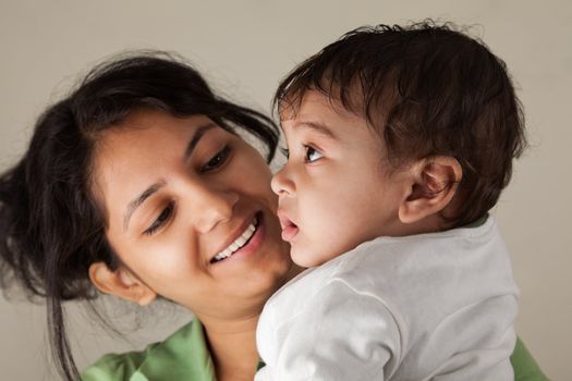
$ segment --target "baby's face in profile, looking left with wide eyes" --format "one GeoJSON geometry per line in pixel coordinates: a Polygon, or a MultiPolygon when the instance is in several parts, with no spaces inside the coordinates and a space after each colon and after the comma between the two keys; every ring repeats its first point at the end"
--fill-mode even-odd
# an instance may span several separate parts
{"type": "Polygon", "coordinates": [[[282,128],[289,159],[271,185],[294,262],[318,266],[365,241],[401,235],[405,174],[392,171],[363,118],[307,91],[282,128]]]}

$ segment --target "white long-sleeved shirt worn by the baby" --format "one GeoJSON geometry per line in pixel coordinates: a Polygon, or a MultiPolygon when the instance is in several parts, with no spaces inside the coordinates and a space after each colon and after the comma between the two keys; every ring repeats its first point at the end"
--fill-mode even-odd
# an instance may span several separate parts
{"type": "Polygon", "coordinates": [[[261,380],[513,380],[518,287],[494,220],[380,237],[266,304],[261,380]]]}

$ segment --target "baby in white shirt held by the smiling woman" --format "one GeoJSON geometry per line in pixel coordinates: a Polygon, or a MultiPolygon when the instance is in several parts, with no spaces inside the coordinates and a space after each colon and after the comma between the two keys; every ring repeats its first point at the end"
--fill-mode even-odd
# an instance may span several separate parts
{"type": "Polygon", "coordinates": [[[358,28],[276,105],[282,237],[256,380],[512,380],[519,291],[488,211],[526,145],[504,63],[433,23],[358,28]]]}

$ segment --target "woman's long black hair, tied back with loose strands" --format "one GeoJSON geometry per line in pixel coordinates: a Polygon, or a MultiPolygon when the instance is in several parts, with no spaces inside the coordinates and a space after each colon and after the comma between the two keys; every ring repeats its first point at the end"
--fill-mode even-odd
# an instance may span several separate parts
{"type": "Polygon", "coordinates": [[[259,138],[268,161],[275,155],[279,135],[269,118],[215,95],[196,70],[162,52],[96,66],[41,114],[26,153],[0,176],[0,283],[20,281],[31,298],[46,297],[52,354],[66,380],[80,377],[62,300],[97,296],[92,263],[119,265],[90,190],[94,147],[102,132],[145,108],[206,115],[259,138]]]}

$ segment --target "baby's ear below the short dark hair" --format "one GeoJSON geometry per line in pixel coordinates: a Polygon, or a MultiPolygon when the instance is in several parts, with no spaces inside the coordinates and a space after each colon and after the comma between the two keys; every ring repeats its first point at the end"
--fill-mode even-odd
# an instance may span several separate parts
{"type": "Polygon", "coordinates": [[[463,176],[459,161],[449,156],[425,158],[411,167],[413,181],[399,208],[399,219],[413,223],[437,214],[452,200],[463,176]]]}

